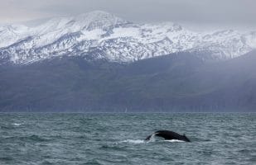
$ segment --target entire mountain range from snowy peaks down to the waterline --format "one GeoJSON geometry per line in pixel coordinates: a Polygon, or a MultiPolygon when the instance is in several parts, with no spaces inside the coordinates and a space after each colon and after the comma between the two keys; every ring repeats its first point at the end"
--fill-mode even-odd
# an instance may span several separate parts
{"type": "Polygon", "coordinates": [[[0,111],[255,111],[256,31],[108,12],[0,27],[0,111]]]}

